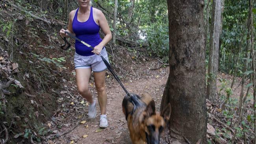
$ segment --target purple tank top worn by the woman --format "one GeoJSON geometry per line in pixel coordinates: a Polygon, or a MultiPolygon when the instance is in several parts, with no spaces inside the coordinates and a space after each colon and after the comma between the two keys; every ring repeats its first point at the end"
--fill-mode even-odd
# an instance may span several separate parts
{"type": "MultiPolygon", "coordinates": [[[[102,39],[100,38],[100,34],[99,34],[100,26],[98,26],[98,24],[96,24],[96,22],[93,19],[93,7],[91,7],[90,16],[88,20],[85,22],[79,22],[77,20],[78,9],[76,10],[76,14],[72,22],[73,31],[76,34],[76,37],[78,39],[81,39],[87,44],[90,44],[91,46],[95,47],[102,41],[102,39]]],[[[91,48],[85,46],[84,44],[82,44],[77,40],[76,40],[75,48],[76,48],[76,53],[79,55],[83,55],[83,56],[94,55],[94,53],[91,52],[92,51],[91,48]]]]}

